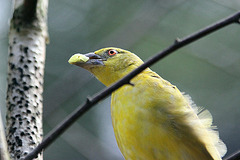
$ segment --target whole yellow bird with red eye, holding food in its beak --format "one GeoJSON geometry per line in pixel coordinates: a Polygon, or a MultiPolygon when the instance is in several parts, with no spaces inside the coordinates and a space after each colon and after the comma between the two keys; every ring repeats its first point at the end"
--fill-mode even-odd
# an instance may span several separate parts
{"type": "MultiPolygon", "coordinates": [[[[143,64],[135,54],[103,48],[75,54],[70,64],[80,66],[106,86],[143,64]]],[[[221,160],[225,144],[213,130],[207,110],[147,68],[112,93],[115,137],[126,160],[221,160]]]]}

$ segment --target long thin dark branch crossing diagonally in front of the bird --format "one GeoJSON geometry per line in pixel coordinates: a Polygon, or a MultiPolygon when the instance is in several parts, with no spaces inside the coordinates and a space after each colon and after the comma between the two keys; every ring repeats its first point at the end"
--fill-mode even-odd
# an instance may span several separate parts
{"type": "Polygon", "coordinates": [[[239,23],[239,20],[240,20],[240,12],[237,12],[234,15],[224,18],[219,22],[216,22],[194,34],[191,34],[183,38],[182,40],[177,39],[173,45],[171,45],[167,49],[163,50],[159,54],[147,60],[143,65],[139,66],[137,69],[135,69],[134,71],[126,75],[124,78],[122,78],[118,82],[114,83],[108,88],[103,89],[98,94],[93,96],[93,98],[88,97],[87,101],[84,104],[80,105],[74,112],[72,112],[69,116],[67,116],[59,125],[57,125],[50,133],[48,133],[46,137],[43,139],[42,143],[39,144],[31,153],[29,153],[24,160],[33,159],[43,149],[46,149],[57,137],[59,137],[68,127],[70,127],[80,116],[82,116],[90,108],[92,108],[93,105],[95,105],[99,101],[109,96],[113,91],[120,88],[124,84],[129,84],[130,80],[134,76],[141,73],[147,67],[153,65],[158,60],[164,58],[165,56],[176,51],[177,49],[180,49],[183,46],[186,46],[210,33],[213,33],[214,31],[217,31],[232,23],[239,23]]]}

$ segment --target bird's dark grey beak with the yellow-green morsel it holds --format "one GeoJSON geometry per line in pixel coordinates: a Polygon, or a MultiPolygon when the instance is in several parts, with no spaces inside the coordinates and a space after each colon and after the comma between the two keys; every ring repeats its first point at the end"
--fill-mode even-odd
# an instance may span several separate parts
{"type": "Polygon", "coordinates": [[[93,52],[87,54],[74,54],[69,60],[68,63],[74,64],[80,67],[84,66],[96,66],[96,65],[104,65],[104,59],[93,52]]]}

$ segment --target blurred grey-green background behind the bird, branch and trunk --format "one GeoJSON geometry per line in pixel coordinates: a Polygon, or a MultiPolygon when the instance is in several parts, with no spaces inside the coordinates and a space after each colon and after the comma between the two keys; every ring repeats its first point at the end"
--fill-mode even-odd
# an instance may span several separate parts
{"type": "MultiPolygon", "coordinates": [[[[8,21],[13,1],[0,0],[0,105],[5,115],[8,21]]],[[[240,9],[239,0],[50,0],[44,91],[44,132],[104,86],[67,63],[77,52],[128,49],[143,60],[240,9]]],[[[240,26],[207,36],[151,68],[213,115],[227,155],[240,149],[240,26]]],[[[5,117],[5,116],[3,116],[5,117]]],[[[122,160],[113,134],[110,97],[44,152],[51,160],[122,160]]]]}

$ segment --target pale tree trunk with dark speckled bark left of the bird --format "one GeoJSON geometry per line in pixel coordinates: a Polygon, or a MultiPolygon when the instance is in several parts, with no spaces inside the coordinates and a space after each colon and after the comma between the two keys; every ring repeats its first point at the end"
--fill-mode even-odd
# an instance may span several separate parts
{"type": "MultiPolygon", "coordinates": [[[[25,157],[43,136],[47,5],[47,0],[16,0],[11,20],[6,134],[12,159],[25,157]]],[[[41,160],[42,154],[36,159],[41,160]]]]}

